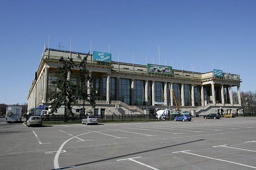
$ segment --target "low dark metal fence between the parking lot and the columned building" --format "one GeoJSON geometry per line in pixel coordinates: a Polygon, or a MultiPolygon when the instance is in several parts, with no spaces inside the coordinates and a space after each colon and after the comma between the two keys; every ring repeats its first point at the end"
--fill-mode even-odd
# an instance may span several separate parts
{"type": "MultiPolygon", "coordinates": [[[[86,116],[74,115],[67,117],[67,123],[81,123],[86,116]]],[[[173,120],[173,115],[166,115],[158,119],[156,115],[99,115],[99,122],[123,122],[123,121],[168,121],[173,120]]],[[[64,123],[64,115],[42,116],[43,124],[64,123]]]]}

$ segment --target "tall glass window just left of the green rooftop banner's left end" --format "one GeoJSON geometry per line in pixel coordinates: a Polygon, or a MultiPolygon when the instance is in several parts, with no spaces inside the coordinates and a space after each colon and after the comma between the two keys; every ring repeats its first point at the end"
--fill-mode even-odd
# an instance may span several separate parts
{"type": "Polygon", "coordinates": [[[144,95],[145,82],[142,80],[134,80],[134,104],[145,105],[144,95]]]}

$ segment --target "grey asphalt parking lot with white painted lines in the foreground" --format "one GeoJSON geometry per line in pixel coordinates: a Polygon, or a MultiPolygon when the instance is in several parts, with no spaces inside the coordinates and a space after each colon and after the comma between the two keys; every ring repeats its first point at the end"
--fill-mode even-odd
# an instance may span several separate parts
{"type": "Polygon", "coordinates": [[[1,170],[256,169],[256,118],[28,128],[0,119],[1,170]]]}

